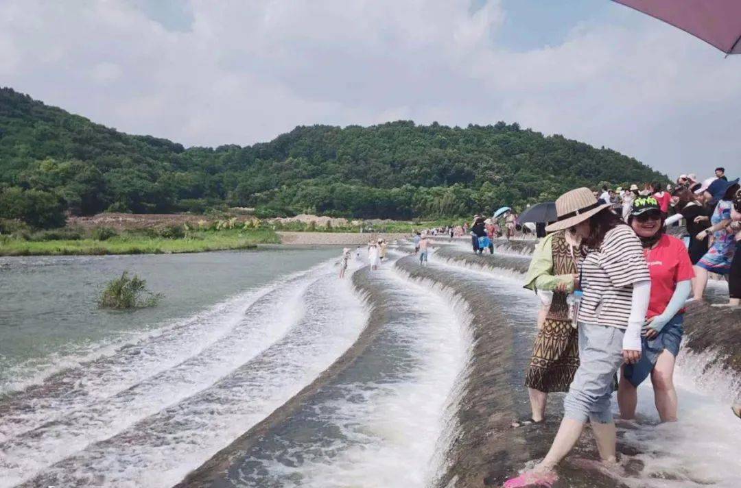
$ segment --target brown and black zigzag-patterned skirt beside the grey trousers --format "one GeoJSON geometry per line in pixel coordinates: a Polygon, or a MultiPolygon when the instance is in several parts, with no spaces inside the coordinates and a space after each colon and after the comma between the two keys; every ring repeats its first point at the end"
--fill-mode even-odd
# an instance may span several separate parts
{"type": "Polygon", "coordinates": [[[546,318],[533,345],[525,386],[541,392],[565,392],[579,367],[579,332],[571,321],[546,318]]]}

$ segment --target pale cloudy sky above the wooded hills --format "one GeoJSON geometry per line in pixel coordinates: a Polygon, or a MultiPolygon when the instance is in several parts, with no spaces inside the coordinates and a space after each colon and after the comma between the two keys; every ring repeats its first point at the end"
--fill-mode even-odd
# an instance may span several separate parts
{"type": "Polygon", "coordinates": [[[608,0],[0,0],[0,86],[186,146],[502,120],[741,175],[741,56],[608,0]]]}

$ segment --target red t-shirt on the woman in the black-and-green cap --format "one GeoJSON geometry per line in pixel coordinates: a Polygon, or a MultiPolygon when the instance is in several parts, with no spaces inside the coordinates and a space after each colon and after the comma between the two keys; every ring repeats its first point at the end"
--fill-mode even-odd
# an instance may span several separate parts
{"type": "Polygon", "coordinates": [[[671,235],[662,235],[657,247],[644,252],[651,273],[651,299],[648,301],[647,314],[647,318],[651,318],[666,309],[679,281],[694,278],[694,270],[685,243],[671,235]]]}

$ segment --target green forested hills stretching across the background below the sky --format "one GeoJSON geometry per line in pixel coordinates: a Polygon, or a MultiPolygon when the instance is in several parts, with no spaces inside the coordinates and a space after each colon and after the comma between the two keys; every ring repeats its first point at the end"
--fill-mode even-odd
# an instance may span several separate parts
{"type": "Polygon", "coordinates": [[[491,212],[577,186],[665,181],[634,158],[518,124],[396,121],[296,127],[268,143],[191,147],[129,136],[0,89],[0,217],[44,226],[59,210],[412,218],[491,212]],[[36,217],[35,217],[36,215],[36,217]]]}

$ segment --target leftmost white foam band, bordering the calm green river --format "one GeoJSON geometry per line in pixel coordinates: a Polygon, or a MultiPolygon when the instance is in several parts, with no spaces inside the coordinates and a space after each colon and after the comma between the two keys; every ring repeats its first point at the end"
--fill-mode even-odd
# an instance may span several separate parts
{"type": "MultiPolygon", "coordinates": [[[[323,265],[326,267],[327,265],[323,265]]],[[[322,265],[295,273],[257,290],[238,295],[215,307],[176,321],[159,330],[136,335],[117,347],[93,347],[96,359],[61,370],[47,381],[0,401],[0,442],[64,418],[73,412],[92,410],[96,403],[129,393],[133,387],[156,377],[184,361],[211,355],[226,344],[239,346],[254,334],[253,321],[247,310],[260,301],[270,304],[270,294],[290,295],[287,284],[293,284],[294,299],[300,287],[306,286],[312,273],[322,265]],[[299,287],[296,290],[296,287],[299,287]]],[[[290,287],[289,287],[290,288],[290,287]]],[[[55,364],[62,368],[66,363],[55,364]]]]}

